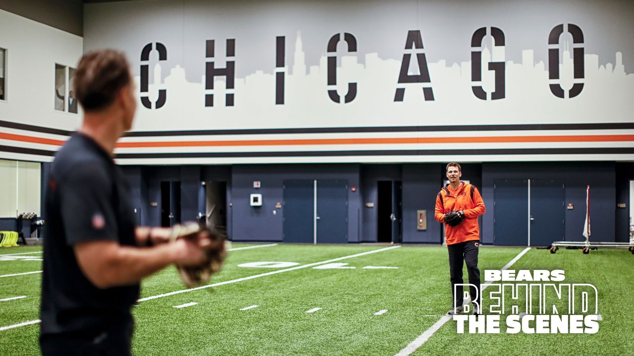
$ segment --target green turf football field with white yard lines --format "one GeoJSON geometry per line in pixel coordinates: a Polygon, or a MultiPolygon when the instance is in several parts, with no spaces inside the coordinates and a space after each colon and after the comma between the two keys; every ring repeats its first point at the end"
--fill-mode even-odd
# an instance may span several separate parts
{"type": "MultiPolygon", "coordinates": [[[[233,249],[244,246],[250,245],[233,244],[233,249]]],[[[0,275],[40,270],[40,261],[6,256],[39,250],[1,249],[0,275]]],[[[483,283],[485,269],[501,269],[522,250],[481,248],[483,283]]],[[[37,258],[41,254],[20,256],[37,258]]],[[[547,250],[529,250],[510,269],[563,269],[566,283],[595,285],[603,319],[598,333],[457,334],[456,322],[450,320],[411,354],[634,354],[630,339],[634,321],[628,312],[628,291],[634,282],[631,253],[598,250],[582,255],[579,250],[559,250],[553,255],[547,250]]],[[[396,355],[451,307],[443,247],[276,245],[234,250],[223,272],[212,279],[212,283],[223,282],[230,283],[160,296],[183,290],[176,270],[169,268],[147,279],[142,301],[133,310],[134,354],[396,355]],[[238,267],[248,262],[298,265],[238,267]],[[313,268],[327,263],[355,268],[313,268]],[[398,269],[364,269],[366,266],[398,269]],[[275,271],[279,272],[246,278],[275,271]],[[174,308],[186,303],[197,305],[174,308]],[[240,310],[252,305],[257,307],[240,310]],[[314,308],[320,309],[307,313],[314,308]],[[380,310],[387,312],[375,315],[380,310]]],[[[40,283],[41,274],[0,277],[0,300],[27,296],[0,302],[0,328],[39,319],[40,283]]],[[[38,333],[39,324],[1,330],[0,355],[38,355],[38,333]]]]}

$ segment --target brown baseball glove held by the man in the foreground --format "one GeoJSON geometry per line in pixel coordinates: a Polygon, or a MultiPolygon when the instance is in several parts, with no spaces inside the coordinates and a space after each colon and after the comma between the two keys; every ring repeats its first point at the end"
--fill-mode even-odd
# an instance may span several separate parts
{"type": "Polygon", "coordinates": [[[205,248],[207,260],[198,266],[176,265],[178,274],[187,288],[193,288],[209,282],[212,274],[220,272],[224,258],[227,257],[227,252],[224,249],[226,235],[216,229],[200,226],[197,222],[186,222],[183,225],[172,227],[171,240],[196,238],[200,234],[207,234],[211,240],[210,245],[205,248]]]}

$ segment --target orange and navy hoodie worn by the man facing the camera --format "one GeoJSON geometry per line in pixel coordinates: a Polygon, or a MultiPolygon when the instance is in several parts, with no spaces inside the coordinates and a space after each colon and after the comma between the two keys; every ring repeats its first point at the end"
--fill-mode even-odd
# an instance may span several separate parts
{"type": "Polygon", "coordinates": [[[460,187],[456,191],[451,190],[450,185],[447,184],[436,197],[436,213],[434,214],[436,221],[444,222],[444,213],[452,210],[462,210],[465,213],[465,220],[456,227],[445,224],[447,245],[472,240],[479,241],[480,228],[477,225],[477,217],[486,211],[480,192],[465,182],[460,182],[460,187]]]}

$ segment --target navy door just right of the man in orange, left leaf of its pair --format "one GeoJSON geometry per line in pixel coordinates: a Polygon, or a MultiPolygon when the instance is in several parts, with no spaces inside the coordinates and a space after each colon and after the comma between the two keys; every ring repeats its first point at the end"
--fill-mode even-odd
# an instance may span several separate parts
{"type": "Polygon", "coordinates": [[[493,190],[495,245],[528,245],[528,180],[498,179],[493,190]]]}

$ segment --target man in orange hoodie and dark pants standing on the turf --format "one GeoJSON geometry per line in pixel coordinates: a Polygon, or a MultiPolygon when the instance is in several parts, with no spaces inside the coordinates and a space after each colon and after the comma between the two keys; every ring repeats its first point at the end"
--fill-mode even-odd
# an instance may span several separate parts
{"type": "MultiPolygon", "coordinates": [[[[480,228],[477,224],[477,217],[484,214],[486,208],[480,192],[471,184],[460,181],[462,172],[458,163],[449,163],[446,175],[449,184],[444,186],[436,197],[434,217],[437,222],[445,224],[451,292],[455,307],[448,314],[453,315],[463,312],[462,286],[456,286],[456,284],[463,283],[463,262],[467,263],[469,283],[477,286],[477,290],[473,286],[469,288],[470,296],[472,300],[474,296],[477,296],[478,305],[481,305],[480,270],[477,268],[480,228]]],[[[478,312],[480,310],[477,310],[474,305],[474,314],[478,312]]]]}

